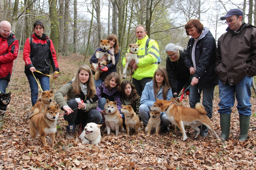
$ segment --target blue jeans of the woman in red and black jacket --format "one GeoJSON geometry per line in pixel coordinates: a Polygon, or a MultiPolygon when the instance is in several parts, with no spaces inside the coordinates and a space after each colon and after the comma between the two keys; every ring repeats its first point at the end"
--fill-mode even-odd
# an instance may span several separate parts
{"type": "Polygon", "coordinates": [[[43,91],[46,91],[46,90],[49,91],[50,90],[50,78],[35,75],[35,77],[36,77],[36,79],[35,79],[33,74],[31,74],[31,73],[25,73],[25,74],[28,78],[29,87],[30,87],[30,91],[31,91],[31,102],[32,102],[32,105],[34,106],[36,104],[36,100],[38,98],[38,85],[37,85],[36,79],[39,80],[43,91]]]}

